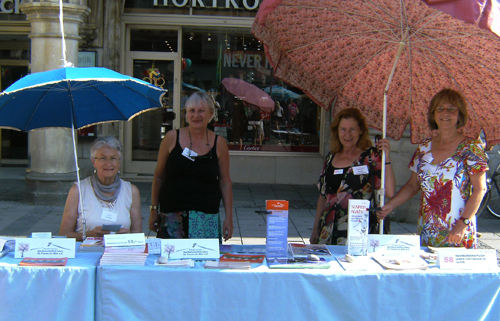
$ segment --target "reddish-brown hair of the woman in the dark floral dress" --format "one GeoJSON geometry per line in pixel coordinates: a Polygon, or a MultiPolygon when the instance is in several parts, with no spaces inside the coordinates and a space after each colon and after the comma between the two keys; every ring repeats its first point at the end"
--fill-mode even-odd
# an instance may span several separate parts
{"type": "Polygon", "coordinates": [[[341,110],[333,119],[332,125],[330,126],[330,152],[335,154],[342,150],[343,146],[339,139],[339,125],[342,119],[353,118],[358,122],[358,126],[361,129],[361,136],[356,145],[362,150],[367,149],[372,146],[372,141],[370,140],[370,135],[368,132],[368,124],[366,123],[366,118],[361,114],[357,108],[346,108],[341,110]]]}

